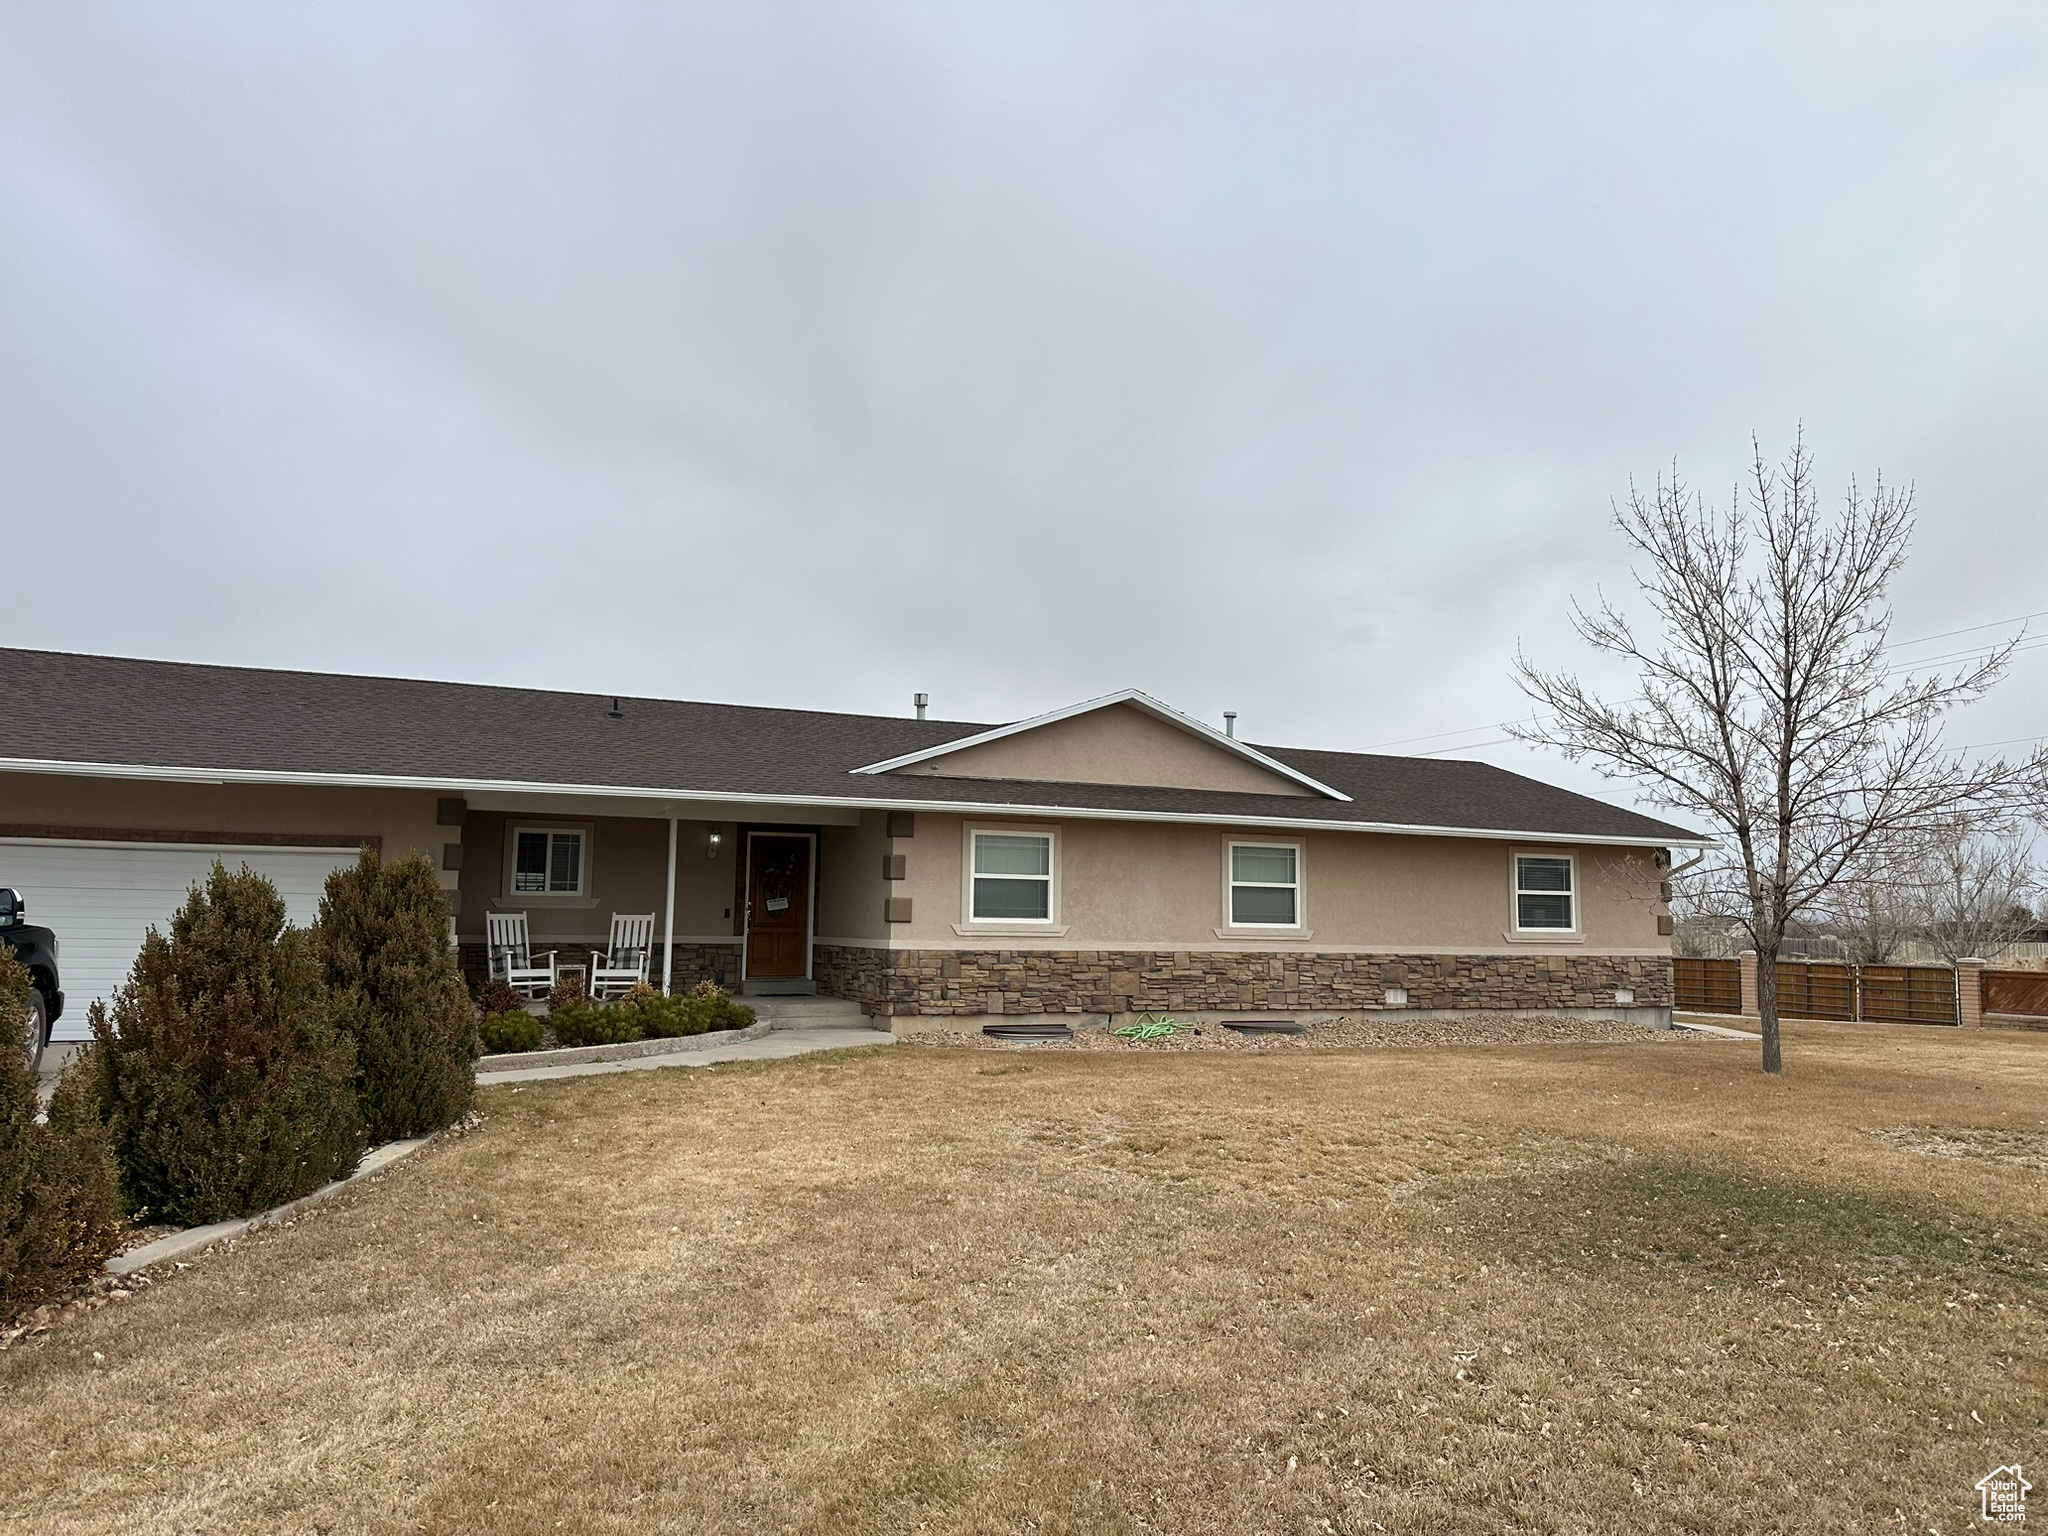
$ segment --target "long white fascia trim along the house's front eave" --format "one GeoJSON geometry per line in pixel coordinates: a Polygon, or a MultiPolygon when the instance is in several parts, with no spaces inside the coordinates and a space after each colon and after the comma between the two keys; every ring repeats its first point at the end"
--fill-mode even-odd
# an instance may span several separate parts
{"type": "Polygon", "coordinates": [[[1710,838],[1595,838],[1577,831],[1503,827],[1419,827],[1401,821],[1327,821],[1288,815],[1210,815],[1198,811],[1114,811],[1094,805],[1026,805],[997,801],[911,801],[858,795],[756,795],[709,788],[623,788],[618,784],[530,784],[514,778],[416,778],[408,774],[303,774],[268,768],[154,768],[125,762],[45,762],[0,758],[0,772],[76,774],[80,778],[143,778],[172,784],[295,784],[305,788],[414,788],[438,795],[592,795],[668,805],[778,805],[852,811],[926,811],[930,815],[1040,815],[1067,821],[1167,821],[1198,827],[1276,827],[1290,831],[1382,831],[1399,838],[1481,838],[1485,842],[1550,842],[1583,848],[1718,848],[1710,838]]]}

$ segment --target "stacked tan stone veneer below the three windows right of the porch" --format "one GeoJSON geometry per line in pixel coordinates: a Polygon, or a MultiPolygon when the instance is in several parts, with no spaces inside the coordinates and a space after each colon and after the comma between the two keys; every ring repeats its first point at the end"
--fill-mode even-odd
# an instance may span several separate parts
{"type": "Polygon", "coordinates": [[[1634,954],[1319,954],[1251,950],[868,950],[817,946],[817,985],[883,1018],[1133,1014],[1182,1008],[1384,1010],[1671,1006],[1671,961],[1634,954]]]}

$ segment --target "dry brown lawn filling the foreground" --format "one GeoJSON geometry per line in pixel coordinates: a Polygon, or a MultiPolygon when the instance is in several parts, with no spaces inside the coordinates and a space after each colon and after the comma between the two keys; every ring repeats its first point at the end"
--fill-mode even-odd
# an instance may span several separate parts
{"type": "Polygon", "coordinates": [[[1960,1532],[1993,1466],[2048,1487],[2048,1038],[1804,1026],[1788,1061],[489,1090],[0,1354],[0,1528],[1960,1532]]]}

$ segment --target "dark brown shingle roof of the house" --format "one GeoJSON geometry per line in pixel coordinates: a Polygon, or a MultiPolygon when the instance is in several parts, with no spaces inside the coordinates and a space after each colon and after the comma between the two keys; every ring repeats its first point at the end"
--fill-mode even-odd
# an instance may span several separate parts
{"type": "Polygon", "coordinates": [[[1235,795],[854,768],[987,725],[676,698],[356,678],[0,649],[0,764],[104,764],[233,776],[381,778],[786,797],[862,805],[1042,807],[1167,819],[1458,827],[1642,842],[1698,834],[1483,762],[1260,748],[1350,795],[1235,795]]]}

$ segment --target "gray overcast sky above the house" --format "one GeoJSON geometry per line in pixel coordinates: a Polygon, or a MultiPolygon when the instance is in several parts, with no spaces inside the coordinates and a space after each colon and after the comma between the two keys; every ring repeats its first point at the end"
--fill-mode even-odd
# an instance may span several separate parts
{"type": "Polygon", "coordinates": [[[2048,608],[2044,252],[2040,4],[10,4],[0,643],[1370,748],[1800,420],[2048,608]]]}

